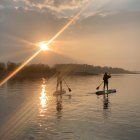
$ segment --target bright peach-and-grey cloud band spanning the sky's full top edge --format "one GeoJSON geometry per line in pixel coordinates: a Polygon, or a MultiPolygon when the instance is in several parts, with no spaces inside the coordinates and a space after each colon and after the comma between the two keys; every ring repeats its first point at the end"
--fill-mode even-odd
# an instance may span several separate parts
{"type": "Polygon", "coordinates": [[[0,0],[0,9],[49,12],[57,18],[71,18],[87,3],[90,5],[82,13],[84,18],[93,15],[107,17],[121,11],[140,9],[139,0],[0,0]]]}

